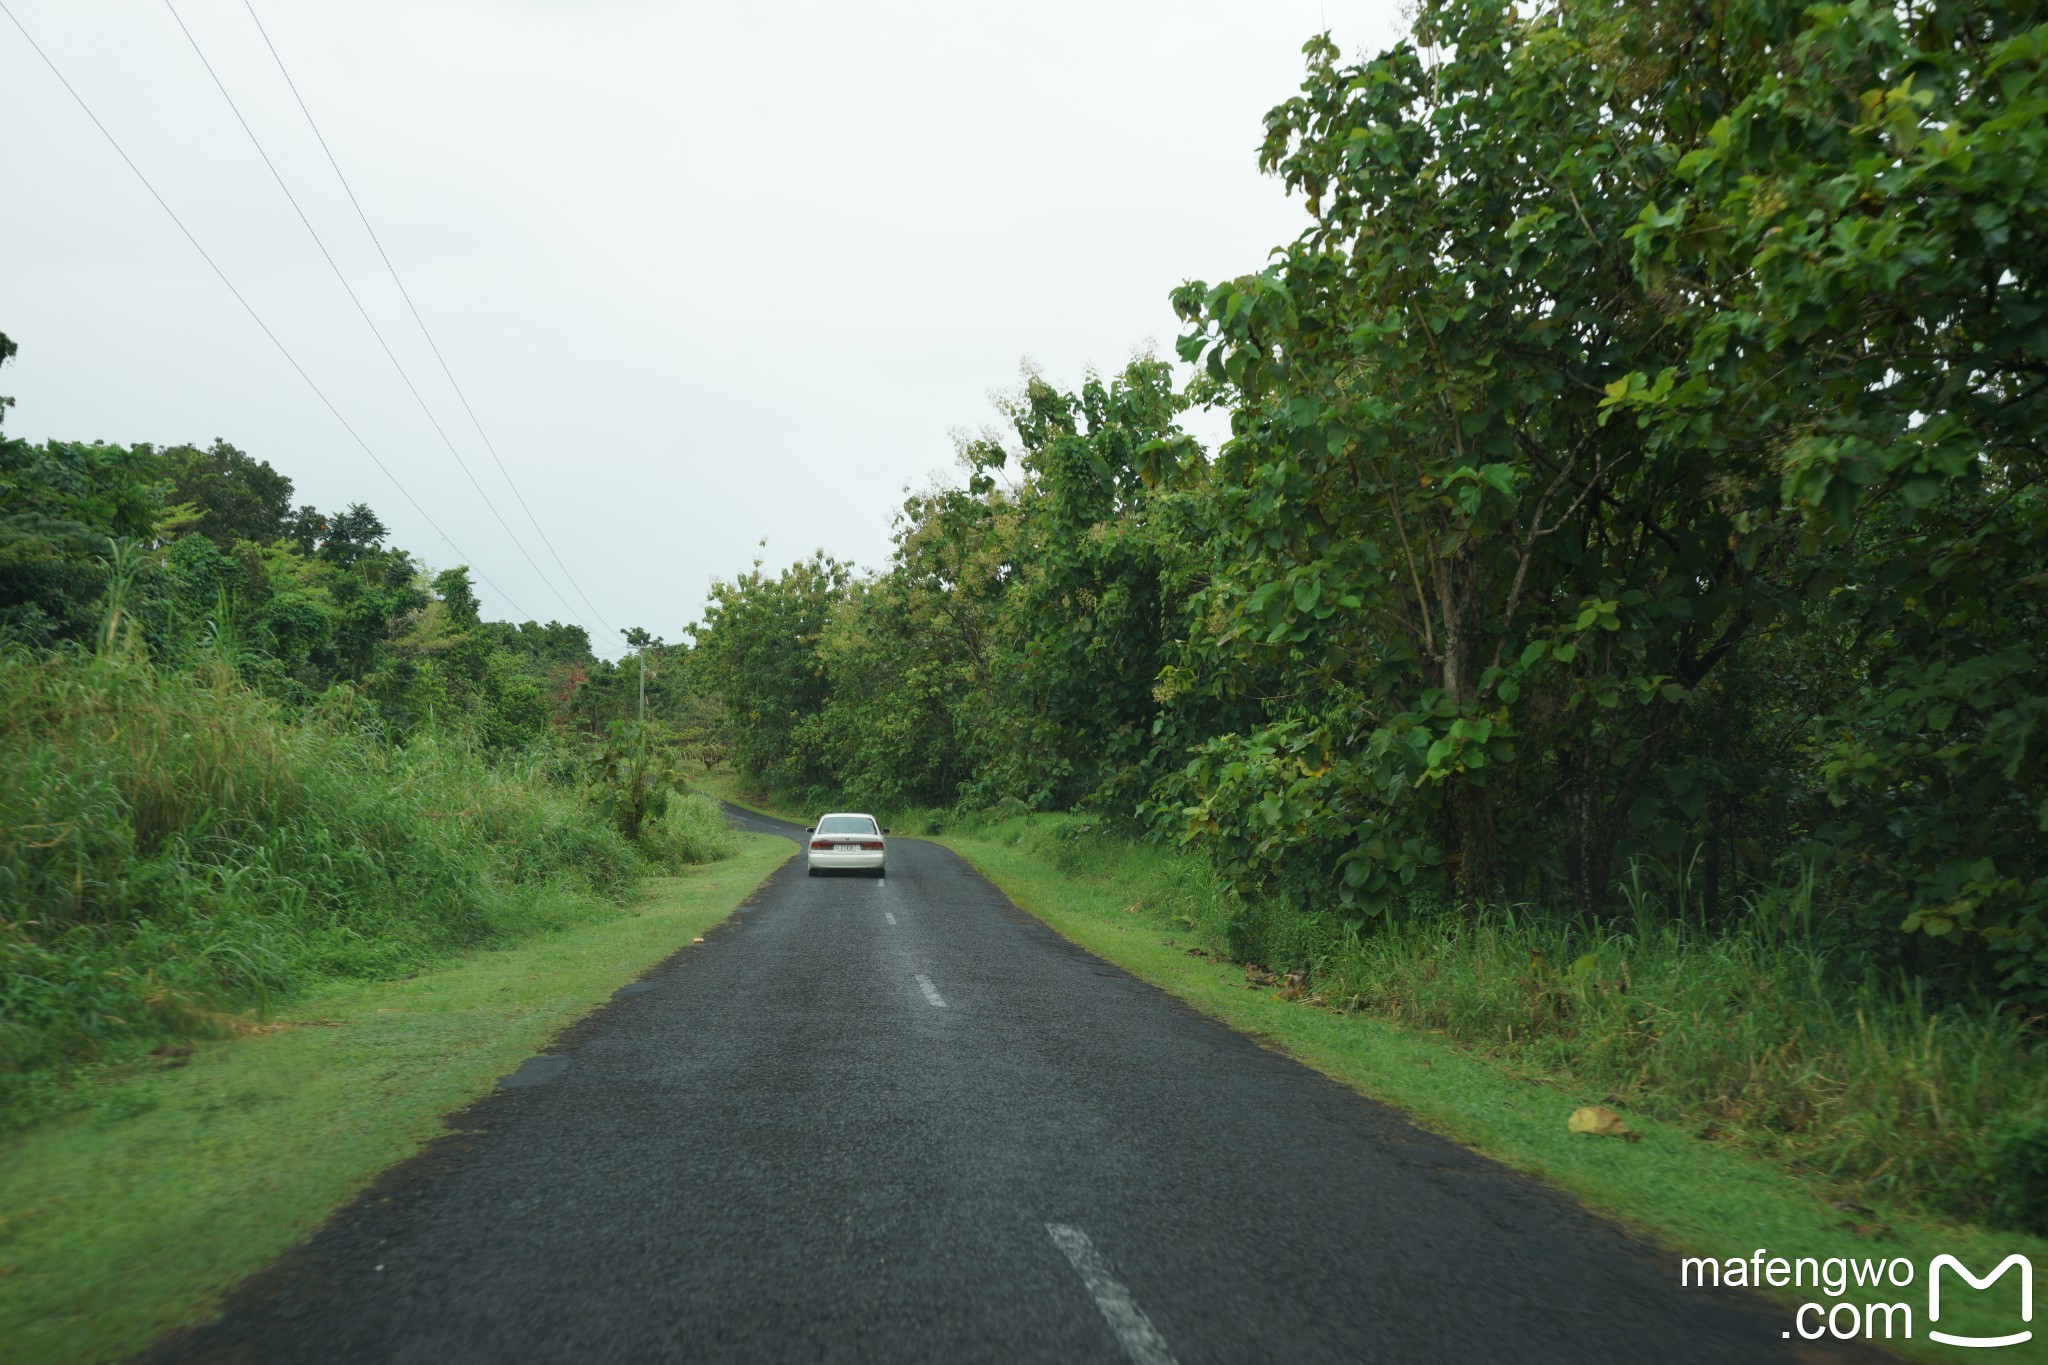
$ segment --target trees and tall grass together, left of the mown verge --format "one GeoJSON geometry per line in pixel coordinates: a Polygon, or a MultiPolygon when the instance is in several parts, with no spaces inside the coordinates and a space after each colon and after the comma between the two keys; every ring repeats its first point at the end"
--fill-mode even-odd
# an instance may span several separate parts
{"type": "Polygon", "coordinates": [[[629,643],[647,720],[639,659],[483,620],[465,569],[225,442],[0,440],[0,1130],[731,855],[680,782],[682,655],[629,643]]]}

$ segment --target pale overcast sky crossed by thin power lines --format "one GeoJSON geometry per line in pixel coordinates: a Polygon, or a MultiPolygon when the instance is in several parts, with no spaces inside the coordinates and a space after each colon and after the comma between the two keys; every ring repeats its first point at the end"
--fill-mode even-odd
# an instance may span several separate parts
{"type": "Polygon", "coordinates": [[[582,620],[612,657],[623,626],[678,639],[764,536],[770,565],[885,563],[901,489],[952,475],[1024,358],[1073,385],[1171,354],[1174,284],[1305,223],[1255,164],[1303,41],[1399,33],[1395,0],[254,0],[586,606],[244,0],[176,12],[518,542],[166,4],[4,4],[424,516],[0,18],[6,432],[225,438],[299,501],[471,563],[489,614],[582,620]]]}

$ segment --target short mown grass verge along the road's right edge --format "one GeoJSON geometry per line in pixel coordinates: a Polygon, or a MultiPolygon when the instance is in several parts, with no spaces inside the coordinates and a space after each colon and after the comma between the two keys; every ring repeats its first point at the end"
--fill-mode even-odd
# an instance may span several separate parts
{"type": "MultiPolygon", "coordinates": [[[[1956,1254],[1985,1273],[2017,1250],[2032,1257],[2038,1271],[2048,1271],[2048,1240],[1913,1218],[1882,1205],[1851,1216],[1833,1207],[1841,1193],[1823,1181],[1704,1142],[1694,1126],[1628,1111],[1624,1117],[1640,1142],[1571,1134],[1567,1117],[1579,1105],[1602,1103],[1599,1091],[1366,1013],[1337,1013],[1282,1001],[1270,988],[1247,988],[1243,968],[1188,956],[1190,948],[1206,943],[1153,909],[1163,898],[1165,853],[1143,845],[1126,847],[1122,855],[1098,849],[1090,866],[1063,870],[1030,841],[1020,847],[1018,827],[1024,823],[940,835],[938,843],[967,857],[1022,909],[1106,962],[1362,1095],[1407,1111],[1423,1128],[1565,1189],[1583,1205],[1661,1244],[1673,1285],[1679,1252],[1747,1259],[1763,1246],[1774,1257],[1905,1257],[1915,1265],[1909,1289],[1862,1297],[1851,1289],[1847,1297],[1911,1304],[1913,1340],[1894,1340],[1892,1349],[1915,1359],[1954,1361],[1978,1353],[1925,1338],[1925,1273],[1933,1257],[1956,1254]]],[[[1954,1279],[1944,1289],[1942,1330],[2017,1330],[2011,1275],[1980,1295],[1954,1279]]],[[[1835,1302],[1821,1293],[1778,1291],[1774,1297],[1788,1306],[1835,1302]]],[[[1790,1308],[1786,1328],[1792,1328],[1790,1308]]]]}

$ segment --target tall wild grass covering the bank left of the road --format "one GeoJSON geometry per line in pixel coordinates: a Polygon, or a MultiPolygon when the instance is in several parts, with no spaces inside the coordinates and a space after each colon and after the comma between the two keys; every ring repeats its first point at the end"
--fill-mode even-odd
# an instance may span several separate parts
{"type": "Polygon", "coordinates": [[[305,718],[225,669],[0,653],[0,1121],[311,978],[616,913],[645,866],[573,792],[453,739],[391,747],[346,696],[305,718]]]}

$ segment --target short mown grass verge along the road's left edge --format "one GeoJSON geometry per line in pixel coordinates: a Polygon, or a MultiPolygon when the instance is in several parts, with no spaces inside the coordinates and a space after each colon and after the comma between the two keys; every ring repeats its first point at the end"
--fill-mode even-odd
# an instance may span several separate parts
{"type": "Polygon", "coordinates": [[[186,1066],[104,1081],[92,1109],[0,1138],[0,1357],[113,1361],[205,1320],[788,851],[745,835],[616,917],[315,988],[285,1015],[299,1027],[199,1044],[186,1066]]]}

